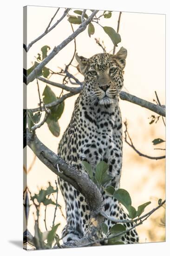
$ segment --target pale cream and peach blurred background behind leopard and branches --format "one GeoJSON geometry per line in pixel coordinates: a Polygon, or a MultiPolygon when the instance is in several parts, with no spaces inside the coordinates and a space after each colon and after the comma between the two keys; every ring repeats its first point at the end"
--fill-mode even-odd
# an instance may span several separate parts
{"type": "MultiPolygon", "coordinates": [[[[27,7],[27,45],[45,31],[56,10],[57,7],[27,7]]],[[[69,14],[75,15],[73,11],[74,9],[69,14]]],[[[63,12],[64,8],[60,8],[52,24],[61,17],[63,12]]],[[[87,10],[86,13],[90,15],[91,11],[87,10]]],[[[97,16],[102,13],[103,11],[99,11],[97,16]]],[[[102,26],[113,27],[116,30],[118,16],[119,12],[112,12],[111,18],[101,18],[100,24],[102,26]]],[[[59,45],[65,38],[72,34],[72,27],[67,19],[65,17],[57,27],[30,48],[27,53],[27,69],[33,66],[41,47],[48,45],[53,49],[54,46],[59,45]]],[[[103,52],[102,48],[96,43],[95,38],[100,39],[101,42],[104,41],[106,52],[111,53],[113,50],[112,41],[105,34],[102,27],[95,23],[93,25],[95,27],[95,33],[91,38],[88,36],[87,29],[76,37],[78,54],[87,58],[103,52]]],[[[78,25],[73,24],[74,30],[77,27],[78,25]]],[[[121,46],[125,47],[128,51],[126,67],[124,69],[123,90],[150,102],[153,102],[153,99],[156,100],[156,91],[161,104],[165,105],[165,15],[123,12],[120,20],[119,34],[122,40],[118,44],[118,47],[116,47],[116,52],[121,46]]],[[[65,68],[65,65],[69,63],[73,53],[74,41],[70,42],[61,50],[46,67],[58,72],[59,67],[65,68]]],[[[77,65],[75,59],[72,65],[77,65]]],[[[83,76],[78,73],[75,67],[70,67],[69,71],[80,81],[83,81],[83,76]]],[[[59,75],[52,75],[50,78],[50,81],[59,83],[62,83],[62,80],[63,77],[59,75]]],[[[39,81],[41,96],[45,87],[46,84],[39,81]]],[[[52,86],[51,88],[56,96],[59,96],[61,89],[52,86]]],[[[64,112],[59,119],[59,137],[52,135],[46,123],[36,130],[39,140],[55,153],[57,153],[59,141],[71,120],[74,102],[77,97],[78,95],[75,95],[65,100],[64,112]]],[[[27,86],[27,108],[38,107],[38,102],[39,94],[36,80],[34,80],[27,86]]],[[[160,117],[157,123],[150,124],[151,115],[158,116],[156,113],[122,100],[120,100],[120,108],[123,122],[126,120],[128,123],[128,132],[134,146],[146,155],[164,155],[164,150],[155,150],[154,148],[165,148],[165,143],[163,142],[156,146],[152,143],[156,138],[165,140],[165,126],[162,118],[160,117]]],[[[124,129],[125,127],[123,126],[123,131],[124,129]]],[[[48,182],[51,182],[52,186],[55,187],[57,176],[34,156],[30,148],[26,147],[24,151],[27,165],[24,166],[24,176],[27,175],[27,187],[31,191],[31,194],[38,193],[41,188],[46,189],[48,182]]],[[[132,205],[135,208],[144,202],[151,201],[151,204],[145,209],[145,213],[153,209],[157,206],[158,199],[164,199],[165,197],[165,160],[150,160],[139,156],[124,142],[121,188],[126,189],[130,193],[132,205]]],[[[66,224],[64,217],[65,203],[60,191],[58,203],[62,206],[62,211],[59,208],[57,209],[55,221],[56,223],[60,223],[57,232],[60,235],[66,224]]],[[[54,205],[49,205],[47,208],[47,229],[50,229],[52,226],[54,210],[54,205]]],[[[35,209],[31,207],[28,218],[28,229],[34,235],[33,212],[35,212],[35,209]]],[[[46,231],[44,212],[45,208],[41,206],[39,224],[42,232],[46,231]]],[[[165,209],[158,209],[143,225],[137,227],[140,243],[165,241],[165,228],[162,225],[164,217],[165,209]]]]}

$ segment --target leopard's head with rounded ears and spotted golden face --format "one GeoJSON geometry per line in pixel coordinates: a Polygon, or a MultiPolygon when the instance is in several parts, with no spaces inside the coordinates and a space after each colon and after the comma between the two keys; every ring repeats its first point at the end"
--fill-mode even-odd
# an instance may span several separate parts
{"type": "Polygon", "coordinates": [[[95,54],[87,59],[76,54],[78,68],[85,76],[84,91],[89,102],[98,101],[100,105],[114,102],[123,88],[123,69],[127,50],[121,47],[117,54],[95,54]]]}

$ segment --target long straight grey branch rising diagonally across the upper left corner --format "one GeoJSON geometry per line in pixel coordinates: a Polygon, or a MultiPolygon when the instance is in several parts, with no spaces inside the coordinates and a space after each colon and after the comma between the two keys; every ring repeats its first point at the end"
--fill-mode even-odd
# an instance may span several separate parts
{"type": "Polygon", "coordinates": [[[86,19],[81,25],[78,27],[78,29],[72,33],[69,37],[67,37],[61,44],[59,44],[57,47],[54,47],[52,52],[41,62],[39,65],[34,68],[34,70],[31,72],[31,74],[27,77],[27,84],[31,81],[33,81],[36,78],[36,74],[39,73],[39,71],[46,66],[46,64],[52,60],[52,58],[59,53],[60,50],[62,50],[68,43],[70,43],[78,34],[83,32],[87,25],[92,21],[93,17],[98,13],[97,10],[93,11],[92,14],[89,16],[88,19],[86,19]]]}

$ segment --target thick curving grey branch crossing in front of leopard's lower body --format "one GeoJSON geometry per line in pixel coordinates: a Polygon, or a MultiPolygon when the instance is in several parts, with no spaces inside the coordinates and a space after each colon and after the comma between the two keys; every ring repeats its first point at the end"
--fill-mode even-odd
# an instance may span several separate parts
{"type": "Polygon", "coordinates": [[[75,189],[85,196],[92,215],[95,216],[100,212],[103,207],[101,193],[85,172],[79,172],[76,168],[68,165],[39,141],[36,135],[33,136],[28,129],[27,145],[33,150],[39,160],[52,170],[52,172],[72,184],[75,189]]]}

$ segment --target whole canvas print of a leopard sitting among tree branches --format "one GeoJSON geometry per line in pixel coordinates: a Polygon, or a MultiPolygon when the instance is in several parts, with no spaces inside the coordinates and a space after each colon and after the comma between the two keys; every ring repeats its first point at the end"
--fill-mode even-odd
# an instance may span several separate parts
{"type": "Polygon", "coordinates": [[[165,241],[165,15],[24,7],[23,247],[165,241]]]}

